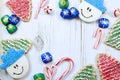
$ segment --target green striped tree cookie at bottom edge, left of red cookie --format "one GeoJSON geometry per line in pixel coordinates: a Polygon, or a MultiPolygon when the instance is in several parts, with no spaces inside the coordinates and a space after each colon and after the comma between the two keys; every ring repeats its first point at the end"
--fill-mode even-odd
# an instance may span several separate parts
{"type": "Polygon", "coordinates": [[[96,73],[92,65],[85,66],[73,80],[96,80],[96,73]]]}

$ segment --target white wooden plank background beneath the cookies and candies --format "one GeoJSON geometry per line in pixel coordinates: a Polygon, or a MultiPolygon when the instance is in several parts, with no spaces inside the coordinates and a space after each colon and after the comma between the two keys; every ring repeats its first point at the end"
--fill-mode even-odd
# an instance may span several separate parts
{"type": "MultiPolygon", "coordinates": [[[[2,16],[5,14],[12,14],[5,5],[6,1],[7,0],[0,1],[0,3],[2,3],[2,10],[0,11],[2,12],[2,16]]],[[[60,60],[62,57],[71,57],[74,60],[74,69],[63,80],[72,80],[80,68],[88,64],[93,64],[96,67],[97,77],[98,80],[100,80],[96,64],[97,54],[107,53],[118,59],[120,58],[120,52],[118,50],[104,44],[106,35],[110,31],[110,28],[115,20],[117,20],[117,18],[113,16],[113,11],[116,8],[120,8],[119,0],[104,1],[105,6],[107,7],[107,12],[102,15],[102,17],[110,20],[110,27],[109,29],[104,30],[104,37],[98,49],[93,48],[97,40],[97,38],[93,38],[93,33],[98,28],[97,21],[87,24],[82,22],[80,19],[64,20],[60,17],[61,10],[58,7],[58,2],[59,0],[50,0],[48,5],[52,7],[53,14],[47,15],[42,9],[39,14],[39,18],[35,20],[33,17],[38,7],[39,0],[32,0],[33,13],[31,21],[21,21],[18,25],[18,31],[13,35],[8,34],[5,26],[0,26],[0,39],[27,38],[33,41],[38,32],[40,32],[41,37],[44,40],[45,44],[42,51],[37,51],[33,46],[27,54],[30,61],[30,71],[27,76],[20,80],[33,80],[33,75],[35,73],[44,72],[43,69],[46,65],[41,62],[40,55],[41,53],[47,51],[53,55],[54,60],[52,64],[60,60]]],[[[69,0],[69,3],[69,8],[78,8],[80,0],[69,0]]],[[[63,71],[63,69],[68,67],[68,65],[68,63],[63,63],[58,67],[58,71],[54,77],[54,80],[62,73],[61,71],[63,71]]],[[[2,80],[12,80],[12,78],[9,77],[8,74],[4,73],[4,71],[0,71],[0,78],[4,78],[2,80]]]]}

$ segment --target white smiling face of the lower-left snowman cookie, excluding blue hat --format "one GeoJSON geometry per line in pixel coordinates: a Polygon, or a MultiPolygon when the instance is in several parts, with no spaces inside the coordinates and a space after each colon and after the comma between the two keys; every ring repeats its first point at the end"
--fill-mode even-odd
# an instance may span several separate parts
{"type": "Polygon", "coordinates": [[[7,68],[7,72],[13,78],[22,78],[29,70],[29,63],[25,55],[7,68]]]}

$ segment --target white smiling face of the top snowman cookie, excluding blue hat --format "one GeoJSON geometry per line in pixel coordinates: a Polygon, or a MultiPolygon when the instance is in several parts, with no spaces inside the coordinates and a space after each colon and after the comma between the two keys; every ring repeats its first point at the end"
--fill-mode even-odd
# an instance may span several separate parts
{"type": "Polygon", "coordinates": [[[80,19],[85,22],[96,21],[102,15],[102,11],[87,3],[86,1],[81,2],[79,6],[79,12],[80,19]]]}

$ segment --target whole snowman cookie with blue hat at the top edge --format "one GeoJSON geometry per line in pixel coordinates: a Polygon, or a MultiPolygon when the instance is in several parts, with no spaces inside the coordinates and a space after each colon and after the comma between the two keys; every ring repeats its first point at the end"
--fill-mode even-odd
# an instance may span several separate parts
{"type": "Polygon", "coordinates": [[[85,22],[93,22],[106,11],[104,0],[82,0],[79,6],[79,17],[85,22]]]}

